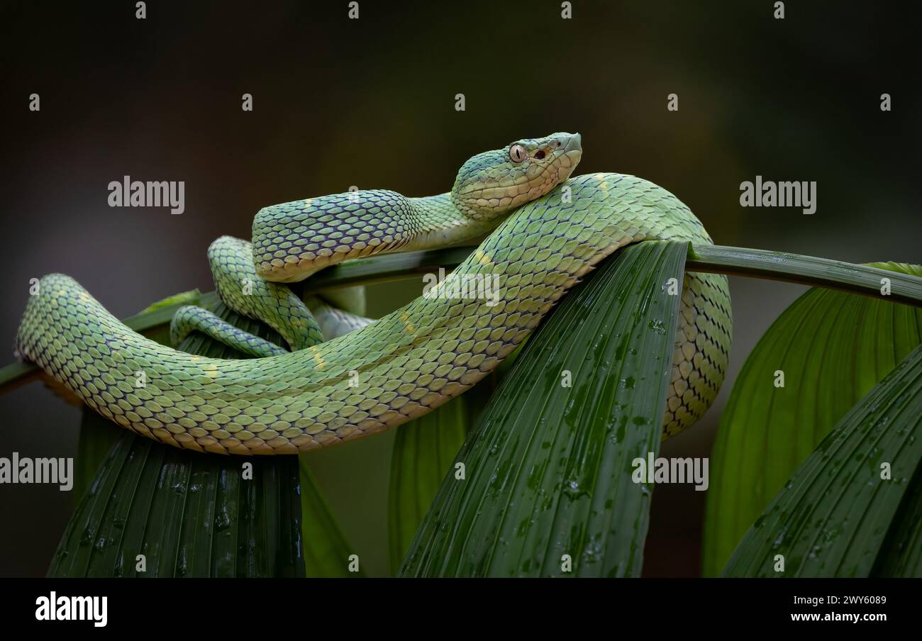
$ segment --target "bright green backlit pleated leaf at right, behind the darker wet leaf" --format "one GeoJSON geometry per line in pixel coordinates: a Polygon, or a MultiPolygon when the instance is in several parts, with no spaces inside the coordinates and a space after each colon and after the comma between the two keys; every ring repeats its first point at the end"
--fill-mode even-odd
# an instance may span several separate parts
{"type": "MultiPolygon", "coordinates": [[[[875,264],[912,276],[922,267],[875,264]]],[[[798,465],[857,401],[922,342],[922,309],[814,289],[752,350],[721,417],[711,458],[703,574],[733,549],[798,465]],[[784,387],[775,382],[784,375],[784,387]]]]}

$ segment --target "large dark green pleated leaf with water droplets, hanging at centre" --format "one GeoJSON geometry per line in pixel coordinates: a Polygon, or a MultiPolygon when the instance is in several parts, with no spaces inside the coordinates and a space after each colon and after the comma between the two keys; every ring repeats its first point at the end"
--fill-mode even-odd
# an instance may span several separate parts
{"type": "MultiPolygon", "coordinates": [[[[638,576],[686,243],[639,243],[568,293],[480,414],[402,576],[638,576]],[[572,386],[563,386],[565,372],[572,386]],[[567,559],[572,571],[567,572],[567,559]]],[[[454,466],[453,466],[454,468],[454,466]]]]}

